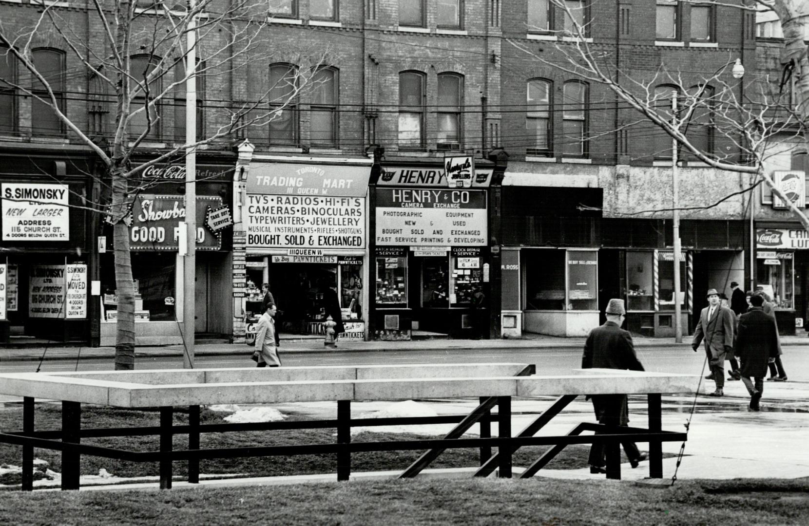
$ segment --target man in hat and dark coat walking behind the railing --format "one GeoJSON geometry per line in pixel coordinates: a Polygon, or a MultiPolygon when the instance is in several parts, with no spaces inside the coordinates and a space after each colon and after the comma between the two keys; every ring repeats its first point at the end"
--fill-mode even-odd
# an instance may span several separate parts
{"type": "MultiPolygon", "coordinates": [[[[596,327],[587,336],[584,343],[582,368],[608,368],[629,369],[630,371],[643,371],[643,365],[637,360],[632,335],[629,330],[621,329],[621,323],[626,317],[624,300],[612,299],[604,311],[607,321],[604,325],[596,327]]],[[[593,401],[595,418],[599,423],[608,426],[629,425],[629,406],[625,394],[594,394],[593,401]]],[[[631,441],[621,442],[629,458],[629,465],[637,468],[638,463],[646,460],[646,455],[637,450],[637,445],[631,441]]],[[[590,448],[590,473],[607,473],[604,469],[606,444],[593,444],[590,448]]]]}

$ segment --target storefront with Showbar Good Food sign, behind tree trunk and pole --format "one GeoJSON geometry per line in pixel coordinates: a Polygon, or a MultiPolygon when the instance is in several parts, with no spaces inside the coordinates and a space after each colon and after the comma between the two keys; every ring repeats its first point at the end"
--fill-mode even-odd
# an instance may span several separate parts
{"type": "MultiPolygon", "coordinates": [[[[184,166],[156,166],[142,175],[150,190],[139,193],[129,226],[129,250],[135,286],[135,344],[182,343],[184,255],[180,221],[185,217],[184,166]],[[172,192],[172,193],[168,193],[172,192]]],[[[231,187],[233,165],[197,165],[196,310],[197,335],[231,333],[231,187]],[[224,234],[224,235],[223,235],[224,234]]],[[[112,228],[105,230],[100,255],[101,345],[114,345],[117,295],[112,228]]],[[[191,292],[191,291],[189,291],[191,292]]]]}

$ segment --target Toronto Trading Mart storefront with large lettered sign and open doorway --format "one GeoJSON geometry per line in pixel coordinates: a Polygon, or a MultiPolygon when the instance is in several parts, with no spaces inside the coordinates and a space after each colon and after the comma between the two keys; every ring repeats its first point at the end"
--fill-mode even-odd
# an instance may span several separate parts
{"type": "Polygon", "coordinates": [[[248,321],[260,315],[269,284],[282,333],[322,336],[339,308],[341,338],[365,339],[370,173],[362,158],[252,157],[241,213],[244,284],[234,273],[248,321]]]}

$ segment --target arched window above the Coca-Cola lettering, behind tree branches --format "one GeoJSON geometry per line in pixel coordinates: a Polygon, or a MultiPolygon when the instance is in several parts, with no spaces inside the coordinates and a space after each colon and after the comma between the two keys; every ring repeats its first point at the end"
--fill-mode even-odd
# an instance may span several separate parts
{"type": "Polygon", "coordinates": [[[159,61],[154,55],[135,55],[129,59],[129,90],[132,95],[129,135],[133,140],[144,133],[146,139],[160,137],[160,111],[155,97],[160,95],[163,83],[153,75],[159,61]]]}

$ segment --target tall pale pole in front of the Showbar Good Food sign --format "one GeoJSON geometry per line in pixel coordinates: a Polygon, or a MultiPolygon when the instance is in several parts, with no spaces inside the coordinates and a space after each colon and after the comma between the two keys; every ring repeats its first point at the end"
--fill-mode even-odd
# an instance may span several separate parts
{"type": "MultiPolygon", "coordinates": [[[[197,141],[197,19],[192,15],[195,0],[188,0],[187,43],[185,55],[185,144],[197,141]]],[[[188,248],[183,266],[183,331],[185,352],[183,368],[194,367],[194,328],[196,326],[197,305],[197,152],[194,147],[185,149],[185,226],[188,234],[188,248]]]]}

